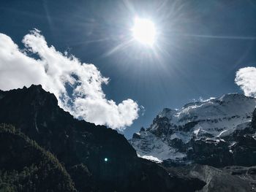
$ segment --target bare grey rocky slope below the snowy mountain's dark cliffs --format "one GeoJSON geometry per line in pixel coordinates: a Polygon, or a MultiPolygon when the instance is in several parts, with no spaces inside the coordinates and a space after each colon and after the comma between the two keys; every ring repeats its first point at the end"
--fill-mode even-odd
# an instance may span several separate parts
{"type": "Polygon", "coordinates": [[[178,172],[183,177],[197,178],[206,183],[199,191],[201,192],[247,192],[256,191],[255,166],[227,166],[217,169],[213,166],[191,164],[167,168],[170,172],[178,172]]]}

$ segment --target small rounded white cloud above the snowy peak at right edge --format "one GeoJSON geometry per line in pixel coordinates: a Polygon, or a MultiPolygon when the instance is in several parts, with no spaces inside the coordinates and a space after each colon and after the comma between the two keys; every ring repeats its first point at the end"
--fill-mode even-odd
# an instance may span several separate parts
{"type": "Polygon", "coordinates": [[[244,91],[246,96],[256,97],[256,68],[244,67],[236,72],[235,82],[244,91]]]}

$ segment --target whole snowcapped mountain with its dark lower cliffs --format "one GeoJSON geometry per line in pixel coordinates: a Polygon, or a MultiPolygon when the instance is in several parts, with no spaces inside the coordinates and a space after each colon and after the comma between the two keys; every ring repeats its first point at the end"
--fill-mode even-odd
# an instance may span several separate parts
{"type": "Polygon", "coordinates": [[[254,139],[251,120],[255,106],[255,98],[229,93],[185,104],[181,110],[165,108],[149,128],[141,128],[129,142],[140,157],[153,161],[250,164],[242,162],[237,152],[246,135],[254,139]]]}

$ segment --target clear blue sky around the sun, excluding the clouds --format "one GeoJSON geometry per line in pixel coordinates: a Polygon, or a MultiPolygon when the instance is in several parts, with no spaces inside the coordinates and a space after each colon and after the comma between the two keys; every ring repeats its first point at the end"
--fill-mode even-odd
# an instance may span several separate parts
{"type": "Polygon", "coordinates": [[[242,93],[234,80],[238,69],[256,66],[255,18],[256,2],[249,0],[0,2],[0,33],[22,47],[23,37],[39,29],[48,45],[110,78],[107,99],[145,107],[124,131],[127,138],[164,107],[242,93]],[[161,31],[156,51],[123,46],[135,16],[151,18],[161,31]]]}

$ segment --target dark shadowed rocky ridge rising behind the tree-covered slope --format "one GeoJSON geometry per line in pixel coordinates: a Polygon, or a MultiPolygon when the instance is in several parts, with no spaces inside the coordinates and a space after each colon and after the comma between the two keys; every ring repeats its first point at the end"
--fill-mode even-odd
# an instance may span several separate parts
{"type": "MultiPolygon", "coordinates": [[[[56,155],[78,191],[174,191],[187,180],[170,177],[162,166],[138,158],[117,131],[72,118],[39,85],[1,91],[0,123],[12,124],[56,155]]],[[[179,191],[195,191],[204,184],[197,180],[179,191]]]]}

